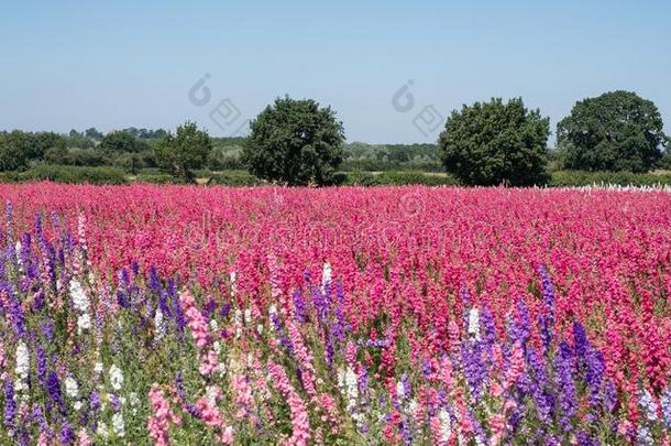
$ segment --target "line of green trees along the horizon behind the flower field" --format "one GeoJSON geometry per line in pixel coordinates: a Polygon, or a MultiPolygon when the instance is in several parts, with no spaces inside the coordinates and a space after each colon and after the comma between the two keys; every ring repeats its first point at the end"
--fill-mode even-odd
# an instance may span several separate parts
{"type": "Polygon", "coordinates": [[[653,102],[630,91],[578,101],[557,126],[521,98],[494,98],[454,110],[436,144],[344,142],[330,107],[277,98],[251,122],[248,138],[211,138],[196,123],[175,133],[134,127],[54,132],[0,132],[0,171],[113,166],[130,175],[160,170],[185,182],[195,171],[248,170],[288,185],[337,184],[337,172],[447,171],[465,185],[542,185],[549,171],[645,173],[671,170],[671,143],[653,102]]]}

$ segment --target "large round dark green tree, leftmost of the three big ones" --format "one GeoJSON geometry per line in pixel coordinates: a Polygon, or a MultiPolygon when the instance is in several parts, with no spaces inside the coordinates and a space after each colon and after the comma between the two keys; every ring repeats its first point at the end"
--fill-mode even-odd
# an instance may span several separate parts
{"type": "Polygon", "coordinates": [[[344,130],[330,107],[277,98],[250,127],[242,159],[254,175],[292,186],[331,184],[342,162],[344,130]]]}

